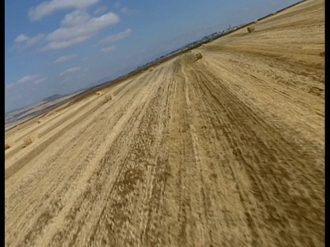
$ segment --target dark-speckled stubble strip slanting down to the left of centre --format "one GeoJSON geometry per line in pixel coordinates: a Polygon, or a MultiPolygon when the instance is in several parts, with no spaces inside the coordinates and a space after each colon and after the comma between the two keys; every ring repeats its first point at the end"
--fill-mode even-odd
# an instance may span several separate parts
{"type": "Polygon", "coordinates": [[[162,95],[166,95],[162,91],[164,89],[159,87],[157,94],[151,99],[146,109],[138,128],[140,132],[134,137],[136,141],[129,155],[129,161],[121,171],[123,175],[114,184],[109,195],[109,202],[107,202],[109,206],[104,207],[94,235],[89,238],[90,241],[104,244],[149,246],[146,243],[148,240],[145,239],[146,227],[150,219],[148,215],[154,210],[149,203],[155,189],[155,169],[159,168],[155,167],[159,158],[155,155],[159,150],[157,148],[159,140],[157,139],[161,133],[160,130],[157,131],[157,122],[162,124],[162,121],[155,119],[155,117],[159,117],[156,110],[159,106],[156,102],[159,102],[162,95]],[[154,133],[155,131],[156,133],[154,133]],[[143,146],[146,148],[142,149],[143,146]],[[139,198],[142,199],[139,200],[139,198]],[[133,204],[133,202],[135,203],[133,204]],[[140,217],[134,219],[135,214],[140,217]],[[136,222],[135,228],[131,227],[133,222],[136,222]],[[108,234],[104,235],[104,233],[108,234]]]}

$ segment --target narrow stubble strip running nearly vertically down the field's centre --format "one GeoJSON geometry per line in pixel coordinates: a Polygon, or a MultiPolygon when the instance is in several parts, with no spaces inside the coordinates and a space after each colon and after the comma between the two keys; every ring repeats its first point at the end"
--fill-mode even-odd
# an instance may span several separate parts
{"type": "MultiPolygon", "coordinates": [[[[179,69],[175,71],[175,75],[178,73],[179,69]]],[[[168,215],[168,220],[162,227],[168,229],[166,233],[163,233],[164,242],[174,246],[179,244],[190,246],[193,243],[199,243],[198,236],[194,233],[202,232],[202,229],[197,226],[199,219],[195,211],[199,211],[199,215],[203,213],[203,208],[199,207],[203,203],[201,189],[194,190],[199,188],[200,176],[197,176],[198,173],[195,174],[196,165],[192,165],[195,163],[195,154],[192,152],[189,115],[185,107],[187,98],[182,82],[184,82],[182,79],[175,78],[175,92],[171,106],[173,113],[170,116],[170,139],[168,139],[170,176],[164,190],[164,208],[168,209],[164,214],[168,215]],[[193,170],[189,169],[191,166],[193,170]]]]}

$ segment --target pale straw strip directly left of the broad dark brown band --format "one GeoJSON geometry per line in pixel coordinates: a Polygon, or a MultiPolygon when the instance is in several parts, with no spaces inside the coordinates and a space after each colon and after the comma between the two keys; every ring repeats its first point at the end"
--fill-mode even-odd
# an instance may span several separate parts
{"type": "Polygon", "coordinates": [[[239,181],[233,171],[234,157],[230,148],[227,148],[229,145],[221,130],[221,124],[213,117],[215,112],[209,110],[206,94],[189,71],[186,72],[186,82],[190,82],[188,87],[192,92],[188,95],[189,101],[192,102],[190,112],[194,116],[193,124],[190,125],[192,138],[195,139],[194,150],[200,154],[195,160],[200,165],[199,172],[203,178],[203,200],[208,201],[208,204],[202,205],[203,209],[209,212],[205,214],[208,222],[202,224],[208,226],[209,235],[212,236],[206,237],[207,243],[212,246],[226,246],[228,242],[233,246],[250,246],[250,229],[243,220],[245,215],[242,213],[244,209],[239,195],[239,181]],[[225,184],[225,188],[218,181],[225,184]],[[220,203],[214,204],[214,201],[220,203]]]}

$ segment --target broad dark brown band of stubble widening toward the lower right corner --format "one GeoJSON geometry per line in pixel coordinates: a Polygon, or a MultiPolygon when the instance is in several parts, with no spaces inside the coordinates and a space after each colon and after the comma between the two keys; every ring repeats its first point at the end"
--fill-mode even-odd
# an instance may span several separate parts
{"type": "MultiPolygon", "coordinates": [[[[209,81],[214,82],[217,80],[216,78],[214,80],[210,79],[212,75],[206,75],[204,70],[200,70],[195,76],[199,78],[199,83],[203,83],[205,90],[208,91],[208,98],[213,99],[214,110],[226,113],[226,117],[228,117],[226,122],[231,124],[231,126],[228,126],[230,132],[225,132],[228,134],[228,141],[234,149],[236,159],[243,165],[250,176],[254,197],[258,202],[258,207],[263,209],[261,215],[265,212],[268,215],[266,217],[256,215],[256,217],[248,218],[249,221],[252,221],[251,225],[254,228],[264,226],[269,228],[268,236],[263,235],[262,239],[265,241],[263,244],[272,242],[281,244],[281,239],[273,235],[274,225],[270,226],[264,223],[269,221],[272,221],[272,224],[279,224],[278,228],[281,229],[279,234],[286,242],[291,242],[292,244],[307,242],[312,244],[314,239],[305,237],[309,231],[314,231],[319,237],[318,241],[322,242],[323,239],[320,239],[320,237],[322,237],[322,228],[324,226],[318,222],[322,222],[322,219],[319,217],[323,213],[322,204],[324,204],[324,200],[322,194],[318,193],[318,191],[322,191],[320,185],[322,185],[323,178],[322,174],[314,171],[314,158],[309,157],[307,153],[302,153],[300,148],[294,143],[283,139],[281,132],[276,131],[268,123],[262,123],[263,118],[255,115],[245,104],[240,104],[239,100],[232,97],[223,84],[217,84],[219,87],[217,88],[212,83],[209,83],[209,81]],[[222,107],[219,108],[219,106],[222,107]],[[235,116],[240,116],[245,121],[237,121],[238,119],[235,116]],[[251,121],[247,121],[248,119],[251,119],[251,121]],[[256,124],[252,124],[254,121],[256,121],[256,124]],[[237,137],[238,133],[245,134],[237,137]],[[259,146],[254,148],[254,146],[251,146],[251,142],[259,146]],[[267,143],[269,144],[267,145],[267,143]],[[271,146],[272,148],[270,148],[271,146]],[[283,147],[285,148],[283,149],[283,147]],[[275,154],[276,152],[278,153],[276,155],[278,157],[274,156],[274,151],[275,154]],[[287,160],[284,158],[287,158],[287,160]],[[314,177],[306,177],[306,169],[309,169],[307,174],[314,174],[311,175],[314,177]],[[298,177],[299,175],[294,175],[297,173],[300,177],[298,177]],[[306,184],[306,178],[312,184],[306,184]],[[295,183],[298,183],[303,189],[295,188],[295,183]],[[291,189],[293,195],[287,193],[288,188],[291,189]],[[301,190],[308,192],[305,192],[304,196],[304,194],[299,192],[301,190]],[[311,199],[314,200],[312,204],[311,199]],[[314,204],[318,205],[318,207],[315,207],[314,204]],[[295,209],[294,211],[292,211],[293,208],[295,209]],[[304,212],[306,209],[317,213],[305,216],[304,212]],[[304,216],[301,217],[301,215],[304,216]],[[260,223],[252,220],[252,218],[258,219],[258,216],[263,219],[260,220],[260,223]],[[294,229],[289,232],[292,227],[298,228],[298,233],[294,229]],[[269,242],[267,242],[267,238],[269,242]]],[[[224,116],[221,115],[221,117],[224,116]]],[[[223,124],[225,125],[225,121],[223,121],[223,124]]],[[[256,235],[254,237],[256,238],[256,235]]],[[[256,243],[258,244],[258,242],[256,243]]]]}

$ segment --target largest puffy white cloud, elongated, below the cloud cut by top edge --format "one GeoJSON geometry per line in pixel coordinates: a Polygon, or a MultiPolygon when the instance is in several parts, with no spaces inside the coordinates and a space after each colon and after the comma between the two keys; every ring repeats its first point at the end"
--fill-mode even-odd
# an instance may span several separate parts
{"type": "Polygon", "coordinates": [[[46,40],[50,43],[41,50],[61,49],[82,43],[105,27],[118,23],[119,21],[120,18],[117,14],[109,12],[102,16],[89,19],[89,21],[76,23],[76,25],[73,26],[62,26],[46,36],[46,40]]]}

